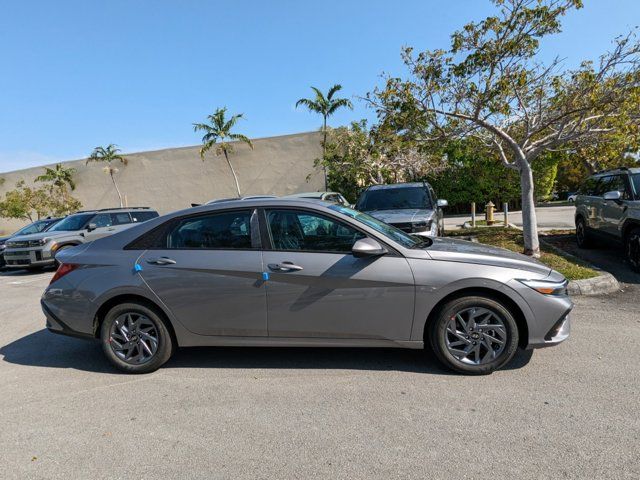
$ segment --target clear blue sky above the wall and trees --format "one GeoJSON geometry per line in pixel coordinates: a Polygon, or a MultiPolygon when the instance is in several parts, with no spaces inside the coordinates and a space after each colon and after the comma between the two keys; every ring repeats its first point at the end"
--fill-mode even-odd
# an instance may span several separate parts
{"type": "MultiPolygon", "coordinates": [[[[585,0],[543,56],[594,58],[640,20],[638,0],[585,0]]],[[[251,137],[309,131],[294,108],[310,85],[356,97],[401,74],[402,45],[446,47],[488,0],[31,0],[0,14],[0,171],[199,143],[191,124],[218,106],[243,112],[251,137]]]]}

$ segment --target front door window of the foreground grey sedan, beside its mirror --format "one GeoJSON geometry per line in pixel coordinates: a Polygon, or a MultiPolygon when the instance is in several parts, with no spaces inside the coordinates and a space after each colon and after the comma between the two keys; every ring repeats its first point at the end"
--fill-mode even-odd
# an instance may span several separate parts
{"type": "Polygon", "coordinates": [[[365,237],[349,225],[305,211],[269,210],[267,225],[275,250],[350,253],[365,237]]]}

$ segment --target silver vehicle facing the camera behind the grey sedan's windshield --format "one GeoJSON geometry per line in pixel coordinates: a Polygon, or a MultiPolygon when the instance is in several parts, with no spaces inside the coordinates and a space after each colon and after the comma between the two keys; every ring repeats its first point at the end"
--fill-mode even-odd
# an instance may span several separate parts
{"type": "Polygon", "coordinates": [[[444,231],[442,207],[427,182],[372,185],[358,197],[355,208],[416,235],[438,236],[444,231]]]}

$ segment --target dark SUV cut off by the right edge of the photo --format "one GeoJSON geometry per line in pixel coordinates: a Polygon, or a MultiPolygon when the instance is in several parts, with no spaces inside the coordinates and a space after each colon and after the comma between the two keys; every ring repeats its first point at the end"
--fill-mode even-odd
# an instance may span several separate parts
{"type": "Polygon", "coordinates": [[[580,187],[578,246],[589,248],[598,239],[620,241],[631,268],[640,272],[640,168],[598,172],[580,187]]]}

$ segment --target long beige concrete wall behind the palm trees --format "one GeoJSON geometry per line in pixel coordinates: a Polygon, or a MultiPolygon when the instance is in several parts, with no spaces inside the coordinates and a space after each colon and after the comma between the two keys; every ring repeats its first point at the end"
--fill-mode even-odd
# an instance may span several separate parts
{"type": "MultiPolygon", "coordinates": [[[[317,191],[323,188],[321,171],[313,163],[322,155],[318,132],[299,133],[253,140],[254,149],[234,144],[231,162],[238,174],[243,195],[317,191]],[[307,176],[310,178],[307,180],[307,176]]],[[[127,166],[118,165],[116,181],[130,206],[149,206],[160,214],[179,210],[191,203],[204,203],[221,197],[236,196],[233,177],[223,156],[209,152],[204,162],[200,147],[170,148],[127,155],[127,166]]],[[[77,170],[77,184],[73,195],[83,208],[119,206],[104,165],[85,160],[64,162],[77,170]]],[[[15,188],[16,182],[28,184],[43,173],[43,167],[1,173],[0,198],[15,188]]],[[[8,232],[24,225],[23,221],[0,218],[0,232],[8,232]]]]}

